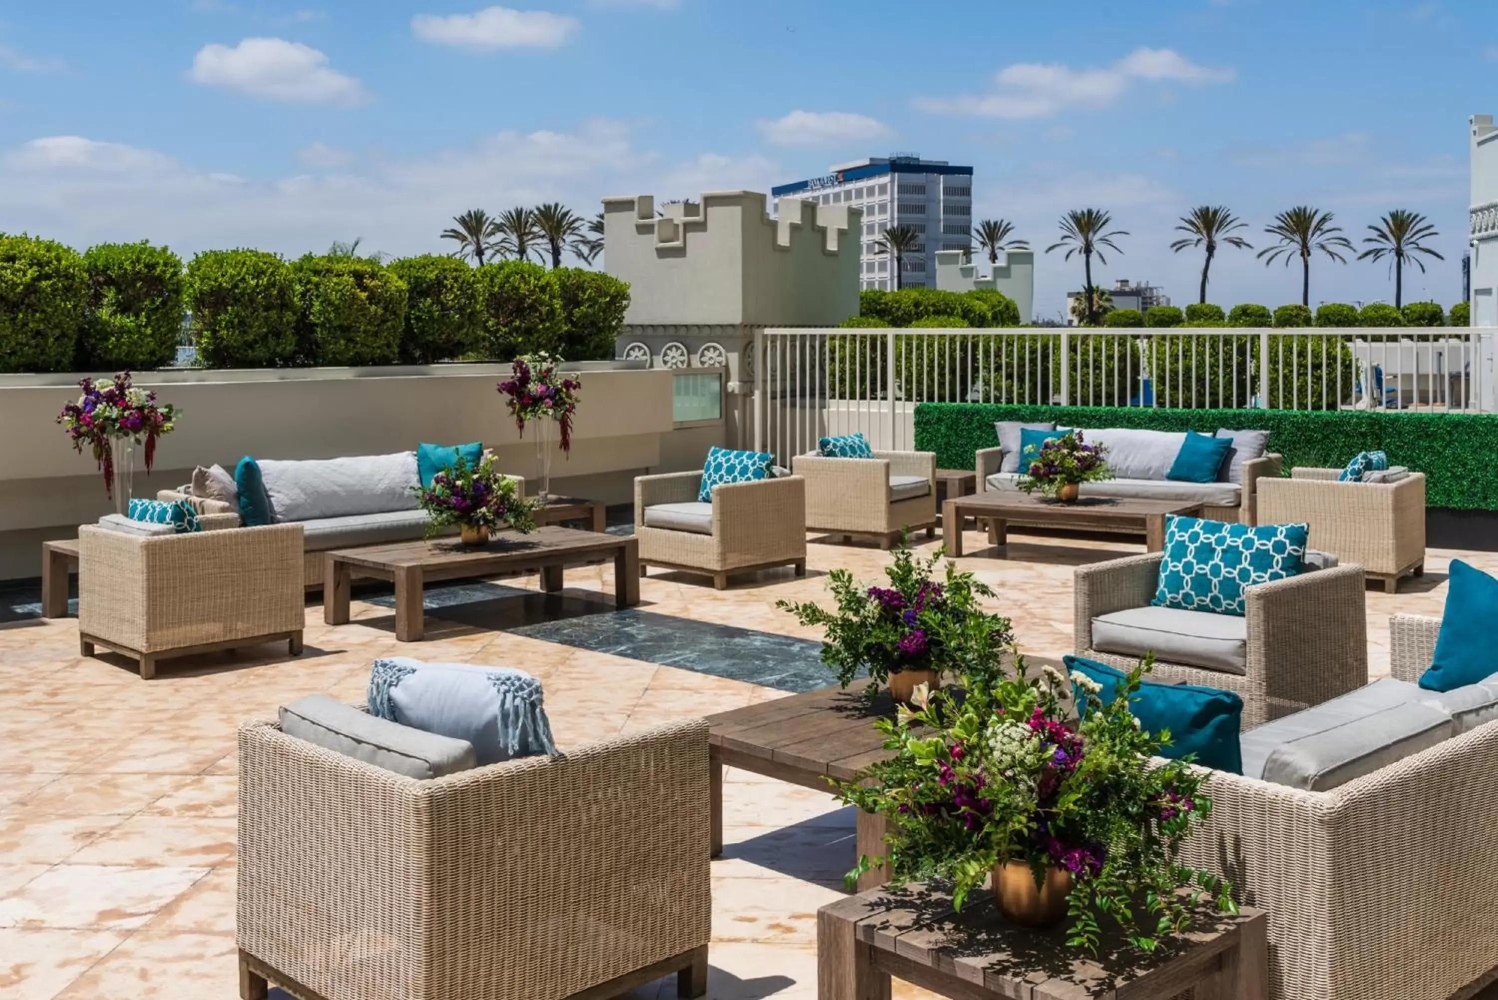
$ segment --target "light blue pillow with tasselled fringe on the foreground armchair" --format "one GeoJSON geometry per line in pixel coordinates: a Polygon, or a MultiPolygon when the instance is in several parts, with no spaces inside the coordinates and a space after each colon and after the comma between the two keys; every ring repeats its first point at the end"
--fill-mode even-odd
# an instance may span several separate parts
{"type": "Polygon", "coordinates": [[[376,660],[370,715],[473,744],[479,765],[547,754],[559,757],[541,682],[509,667],[376,660]]]}

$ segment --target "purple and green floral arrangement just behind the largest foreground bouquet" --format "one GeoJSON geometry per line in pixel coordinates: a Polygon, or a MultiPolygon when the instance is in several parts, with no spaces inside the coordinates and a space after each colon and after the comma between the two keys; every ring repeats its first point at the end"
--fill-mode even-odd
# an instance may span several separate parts
{"type": "Polygon", "coordinates": [[[836,610],[812,601],[777,601],[776,607],[803,625],[825,630],[822,663],[837,672],[843,687],[860,672],[882,684],[905,670],[942,675],[996,663],[1013,633],[1007,618],[978,606],[978,598],[993,597],[993,591],[950,561],[945,577],[936,582],[933,570],[945,561],[939,549],[917,561],[902,541],[893,555],[884,571],[888,586],[855,583],[848,570],[833,570],[828,589],[836,610]]]}

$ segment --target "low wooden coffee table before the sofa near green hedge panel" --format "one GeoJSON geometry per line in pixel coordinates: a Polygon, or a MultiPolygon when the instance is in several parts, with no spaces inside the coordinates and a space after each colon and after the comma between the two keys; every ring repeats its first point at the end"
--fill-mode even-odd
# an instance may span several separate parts
{"type": "Polygon", "coordinates": [[[962,555],[962,517],[989,523],[989,541],[1008,544],[1007,522],[1020,520],[1047,528],[1134,531],[1144,535],[1149,552],[1165,546],[1165,517],[1198,517],[1201,504],[1192,501],[1112,499],[1088,496],[1076,504],[1050,501],[1038,493],[993,492],[960,496],[942,504],[942,543],[948,556],[962,555]]]}

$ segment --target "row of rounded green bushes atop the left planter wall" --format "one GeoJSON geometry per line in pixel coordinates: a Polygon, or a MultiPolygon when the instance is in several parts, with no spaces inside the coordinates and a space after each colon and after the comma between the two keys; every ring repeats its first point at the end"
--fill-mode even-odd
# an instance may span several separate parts
{"type": "Polygon", "coordinates": [[[207,367],[607,360],[628,306],[608,274],[523,261],[207,250],[184,268],[148,243],[0,234],[0,373],[165,367],[184,318],[207,367]]]}

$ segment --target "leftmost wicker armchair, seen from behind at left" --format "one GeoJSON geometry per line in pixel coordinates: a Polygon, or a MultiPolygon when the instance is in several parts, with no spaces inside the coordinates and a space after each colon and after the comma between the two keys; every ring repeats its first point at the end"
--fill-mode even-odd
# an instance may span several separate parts
{"type": "Polygon", "coordinates": [[[301,525],[187,535],[78,529],[78,636],[139,663],[286,640],[301,654],[301,525]]]}

